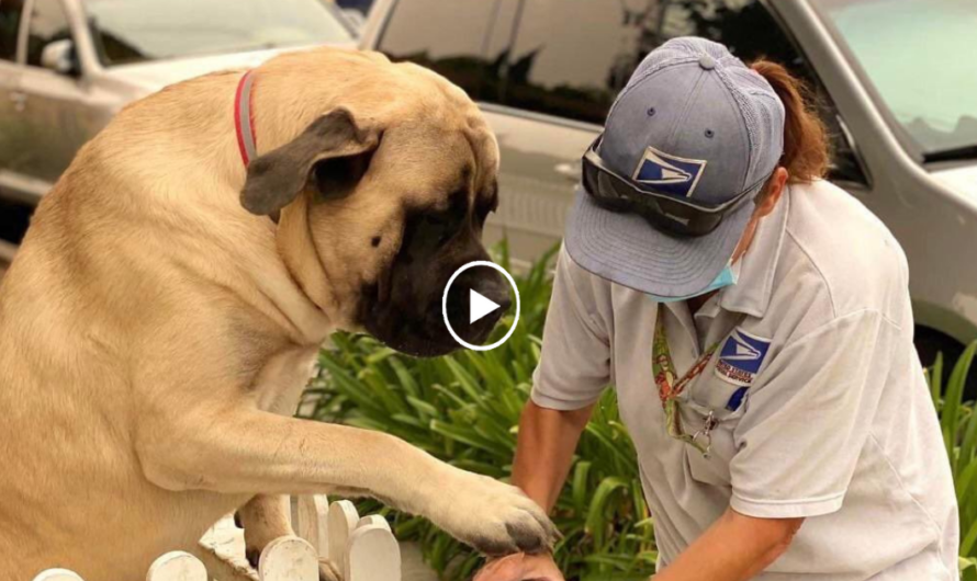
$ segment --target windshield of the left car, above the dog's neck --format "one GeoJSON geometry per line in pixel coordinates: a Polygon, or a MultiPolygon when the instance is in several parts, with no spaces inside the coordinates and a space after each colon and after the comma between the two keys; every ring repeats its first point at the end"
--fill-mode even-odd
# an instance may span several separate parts
{"type": "Polygon", "coordinates": [[[85,5],[106,66],[352,41],[323,0],[87,0],[85,5]]]}

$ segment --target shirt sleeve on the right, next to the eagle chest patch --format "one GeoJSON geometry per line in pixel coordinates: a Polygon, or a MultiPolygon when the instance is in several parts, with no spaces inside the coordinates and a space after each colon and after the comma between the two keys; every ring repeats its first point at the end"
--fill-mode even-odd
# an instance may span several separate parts
{"type": "Polygon", "coordinates": [[[761,372],[733,437],[731,508],[765,519],[841,509],[871,437],[897,328],[858,311],[788,344],[761,372]]]}

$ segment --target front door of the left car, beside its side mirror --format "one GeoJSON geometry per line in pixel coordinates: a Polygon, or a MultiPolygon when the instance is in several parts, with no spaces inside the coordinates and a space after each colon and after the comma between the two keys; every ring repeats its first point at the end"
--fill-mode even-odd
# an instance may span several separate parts
{"type": "Polygon", "coordinates": [[[91,137],[81,129],[90,114],[90,89],[79,67],[63,73],[42,64],[44,49],[52,43],[69,39],[77,46],[63,0],[29,0],[26,8],[21,116],[27,134],[21,137],[21,156],[13,170],[50,185],[91,137]]]}

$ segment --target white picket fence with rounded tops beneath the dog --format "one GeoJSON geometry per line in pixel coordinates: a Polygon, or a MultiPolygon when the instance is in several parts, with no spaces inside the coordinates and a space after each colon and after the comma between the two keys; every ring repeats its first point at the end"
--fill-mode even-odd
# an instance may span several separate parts
{"type": "MultiPolygon", "coordinates": [[[[382,516],[361,519],[346,500],[330,505],[325,495],[299,497],[292,499],[292,528],[296,536],[271,542],[261,551],[255,571],[244,555],[244,532],[227,515],[200,544],[227,567],[225,571],[233,572],[233,578],[209,572],[196,557],[173,551],[156,559],[146,581],[318,581],[319,557],[332,561],[344,581],[401,581],[401,549],[382,516]]],[[[85,580],[72,571],[48,569],[34,581],[85,580]]]]}

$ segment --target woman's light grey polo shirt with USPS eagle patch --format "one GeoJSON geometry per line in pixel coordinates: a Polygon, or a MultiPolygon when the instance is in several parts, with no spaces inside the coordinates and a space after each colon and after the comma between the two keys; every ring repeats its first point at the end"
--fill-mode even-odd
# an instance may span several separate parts
{"type": "Polygon", "coordinates": [[[953,482],[891,233],[828,182],[791,185],[738,269],[693,317],[561,252],[532,400],[580,409],[616,386],[660,568],[732,506],[807,519],[763,581],[957,579],[953,482]],[[721,343],[682,395],[688,433],[719,420],[709,457],[666,433],[659,312],[680,376],[721,343]]]}

